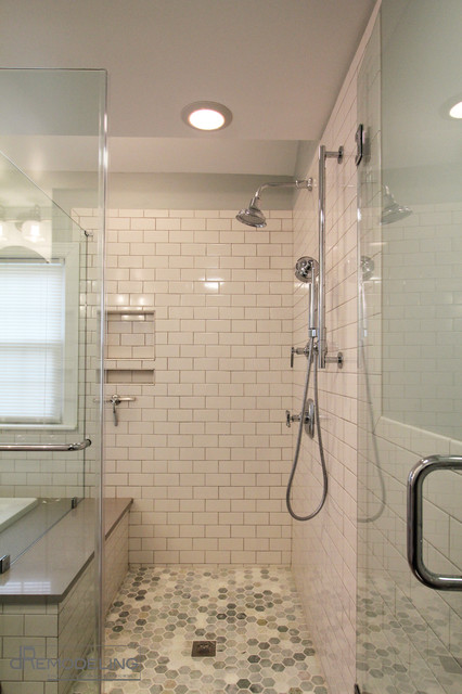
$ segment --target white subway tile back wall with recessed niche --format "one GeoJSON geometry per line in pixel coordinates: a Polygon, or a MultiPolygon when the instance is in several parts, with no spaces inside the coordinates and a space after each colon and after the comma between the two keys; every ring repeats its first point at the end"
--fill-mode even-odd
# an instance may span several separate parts
{"type": "Polygon", "coordinates": [[[105,437],[106,493],[134,499],[131,563],[290,563],[292,211],[261,231],[234,216],[108,210],[110,310],[155,311],[154,375],[128,362],[106,386],[137,398],[105,437]]]}

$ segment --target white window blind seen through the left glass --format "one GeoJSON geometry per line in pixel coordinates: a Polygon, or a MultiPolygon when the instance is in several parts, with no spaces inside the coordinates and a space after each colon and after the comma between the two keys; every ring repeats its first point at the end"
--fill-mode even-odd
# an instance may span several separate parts
{"type": "Polygon", "coordinates": [[[0,422],[63,421],[64,260],[0,262],[0,422]]]}

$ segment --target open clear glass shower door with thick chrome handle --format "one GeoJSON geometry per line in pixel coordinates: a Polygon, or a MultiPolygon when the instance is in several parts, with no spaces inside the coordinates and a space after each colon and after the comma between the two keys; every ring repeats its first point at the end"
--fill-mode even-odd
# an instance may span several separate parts
{"type": "MultiPolygon", "coordinates": [[[[423,584],[407,553],[410,471],[462,455],[460,3],[383,0],[359,75],[357,683],[460,694],[462,592],[423,584]]],[[[462,474],[422,488],[424,565],[462,575],[462,474]]]]}

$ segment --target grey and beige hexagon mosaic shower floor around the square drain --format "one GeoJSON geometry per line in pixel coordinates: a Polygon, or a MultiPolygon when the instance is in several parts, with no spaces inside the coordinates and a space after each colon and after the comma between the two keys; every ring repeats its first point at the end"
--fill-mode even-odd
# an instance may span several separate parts
{"type": "Polygon", "coordinates": [[[106,682],[105,694],[328,694],[285,567],[131,569],[106,645],[106,658],[139,664],[120,677],[141,679],[106,682]],[[216,655],[192,657],[193,641],[215,641],[216,655]]]}

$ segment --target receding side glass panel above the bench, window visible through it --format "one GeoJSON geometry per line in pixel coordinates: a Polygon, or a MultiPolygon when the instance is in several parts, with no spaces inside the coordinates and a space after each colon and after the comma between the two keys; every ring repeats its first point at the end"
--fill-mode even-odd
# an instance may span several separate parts
{"type": "Polygon", "coordinates": [[[91,438],[97,314],[84,229],[3,155],[0,183],[0,556],[13,563],[89,496],[88,451],[56,448],[91,438]]]}

